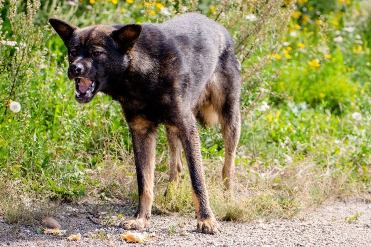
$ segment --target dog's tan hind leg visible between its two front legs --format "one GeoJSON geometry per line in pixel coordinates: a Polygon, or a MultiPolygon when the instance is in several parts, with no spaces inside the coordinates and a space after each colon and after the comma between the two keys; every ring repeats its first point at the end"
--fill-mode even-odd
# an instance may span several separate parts
{"type": "Polygon", "coordinates": [[[166,127],[166,139],[170,151],[169,183],[173,182],[174,186],[177,187],[183,169],[182,142],[179,139],[179,131],[173,127],[166,127]]]}

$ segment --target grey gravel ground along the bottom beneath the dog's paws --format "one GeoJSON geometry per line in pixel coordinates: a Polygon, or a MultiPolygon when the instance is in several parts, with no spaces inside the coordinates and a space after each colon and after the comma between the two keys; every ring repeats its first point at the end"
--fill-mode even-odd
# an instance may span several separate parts
{"type": "MultiPolygon", "coordinates": [[[[152,215],[150,225],[138,232],[155,233],[153,239],[131,244],[119,239],[126,230],[118,227],[115,216],[122,207],[82,203],[62,206],[54,218],[66,230],[63,236],[38,234],[40,225],[8,224],[0,218],[0,246],[362,246],[371,247],[371,203],[361,199],[336,199],[317,208],[300,211],[292,219],[273,219],[255,222],[219,222],[217,235],[195,233],[196,221],[180,215],[152,215]],[[358,213],[358,217],[357,217],[358,213]],[[353,217],[354,216],[354,217],[353,217]],[[104,227],[104,223],[110,225],[104,227]],[[174,229],[171,229],[173,228],[174,229]],[[182,236],[186,231],[186,235],[182,236]],[[88,233],[100,236],[89,237],[88,233]],[[69,241],[70,234],[80,233],[80,241],[69,241]]],[[[125,217],[125,215],[124,215],[125,217]]],[[[92,235],[91,235],[92,236],[92,235]]]]}

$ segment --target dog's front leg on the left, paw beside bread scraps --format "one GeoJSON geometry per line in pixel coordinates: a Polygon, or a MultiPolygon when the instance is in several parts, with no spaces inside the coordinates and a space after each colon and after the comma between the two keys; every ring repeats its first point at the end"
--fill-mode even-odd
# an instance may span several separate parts
{"type": "Polygon", "coordinates": [[[153,174],[155,167],[155,124],[142,118],[129,121],[137,168],[139,205],[133,218],[123,220],[124,229],[143,229],[151,217],[153,202],[153,174]]]}

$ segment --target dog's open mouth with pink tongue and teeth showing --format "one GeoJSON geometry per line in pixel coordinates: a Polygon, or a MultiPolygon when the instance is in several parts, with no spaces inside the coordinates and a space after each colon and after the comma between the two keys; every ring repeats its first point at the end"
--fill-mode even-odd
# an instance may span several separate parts
{"type": "Polygon", "coordinates": [[[81,103],[89,102],[93,99],[94,94],[96,93],[96,89],[99,85],[99,82],[88,79],[78,77],[75,78],[76,82],[76,99],[81,103]]]}

